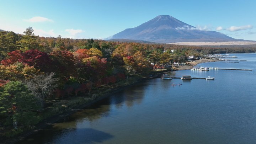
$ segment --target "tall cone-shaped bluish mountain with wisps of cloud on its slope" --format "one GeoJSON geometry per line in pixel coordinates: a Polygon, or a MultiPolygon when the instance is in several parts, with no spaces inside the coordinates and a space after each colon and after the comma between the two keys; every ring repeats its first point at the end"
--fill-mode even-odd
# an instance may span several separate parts
{"type": "Polygon", "coordinates": [[[220,32],[198,30],[169,15],[159,15],[142,25],[127,28],[107,39],[133,39],[157,43],[237,41],[220,32]]]}

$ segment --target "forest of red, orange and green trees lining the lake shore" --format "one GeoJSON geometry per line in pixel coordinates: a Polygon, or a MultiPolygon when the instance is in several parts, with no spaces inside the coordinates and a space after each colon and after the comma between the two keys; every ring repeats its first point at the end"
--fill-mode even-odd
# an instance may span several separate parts
{"type": "Polygon", "coordinates": [[[95,99],[95,92],[104,95],[106,87],[186,62],[190,55],[249,52],[256,47],[39,37],[32,27],[23,34],[0,31],[0,134],[9,137],[32,129],[42,119],[95,99]]]}

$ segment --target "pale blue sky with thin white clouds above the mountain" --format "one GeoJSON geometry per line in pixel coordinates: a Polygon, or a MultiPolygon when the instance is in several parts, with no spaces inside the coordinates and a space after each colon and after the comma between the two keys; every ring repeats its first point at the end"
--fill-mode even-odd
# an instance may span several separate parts
{"type": "Polygon", "coordinates": [[[0,29],[46,37],[103,39],[158,15],[256,41],[255,0],[0,0],[0,29]]]}

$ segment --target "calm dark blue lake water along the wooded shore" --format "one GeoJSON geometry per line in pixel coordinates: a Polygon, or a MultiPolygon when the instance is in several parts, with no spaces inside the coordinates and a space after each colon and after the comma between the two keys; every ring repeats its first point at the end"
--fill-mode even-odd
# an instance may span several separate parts
{"type": "MultiPolygon", "coordinates": [[[[52,124],[20,143],[256,143],[256,53],[230,54],[239,63],[204,67],[252,69],[173,71],[181,77],[131,86],[52,124]],[[181,82],[181,86],[171,86],[181,82]]],[[[234,61],[236,62],[236,61],[234,61]]]]}

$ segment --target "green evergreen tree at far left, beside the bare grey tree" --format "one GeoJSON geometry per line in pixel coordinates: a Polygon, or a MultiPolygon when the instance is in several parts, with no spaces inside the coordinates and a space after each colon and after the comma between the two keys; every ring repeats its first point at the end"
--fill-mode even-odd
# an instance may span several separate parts
{"type": "Polygon", "coordinates": [[[18,124],[29,126],[36,124],[37,98],[31,94],[27,86],[20,81],[10,81],[0,91],[0,113],[3,114],[5,124],[13,123],[17,129],[18,124]]]}

